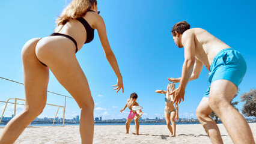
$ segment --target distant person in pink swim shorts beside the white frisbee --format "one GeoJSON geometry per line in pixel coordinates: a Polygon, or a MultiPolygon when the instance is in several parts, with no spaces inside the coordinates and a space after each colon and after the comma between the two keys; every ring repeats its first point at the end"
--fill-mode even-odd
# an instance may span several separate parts
{"type": "MultiPolygon", "coordinates": [[[[132,122],[132,120],[134,119],[136,135],[139,135],[139,118],[141,118],[143,112],[141,110],[132,110],[133,106],[139,106],[139,104],[136,102],[137,98],[138,95],[135,92],[130,94],[130,98],[127,100],[126,106],[124,106],[124,109],[126,109],[126,107],[130,109],[130,113],[126,121],[127,134],[129,134],[130,122],[132,122]]],[[[124,109],[120,110],[120,112],[123,112],[124,109]]]]}

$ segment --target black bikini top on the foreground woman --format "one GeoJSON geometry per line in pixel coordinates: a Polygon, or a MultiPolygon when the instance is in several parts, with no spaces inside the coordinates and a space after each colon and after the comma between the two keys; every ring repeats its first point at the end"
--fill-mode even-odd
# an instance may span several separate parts
{"type": "MultiPolygon", "coordinates": [[[[93,11],[93,10],[88,10],[88,11],[93,11]]],[[[86,33],[87,33],[87,40],[85,41],[85,44],[90,43],[91,41],[93,41],[93,38],[94,38],[94,29],[91,28],[89,23],[83,17],[80,17],[77,20],[84,25],[86,33]]]]}

